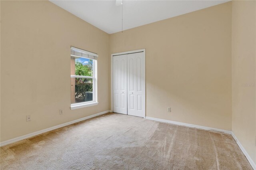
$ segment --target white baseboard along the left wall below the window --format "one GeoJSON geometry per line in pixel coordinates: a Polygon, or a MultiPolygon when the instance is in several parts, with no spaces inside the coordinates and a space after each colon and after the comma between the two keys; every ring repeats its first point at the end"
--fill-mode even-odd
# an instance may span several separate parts
{"type": "Polygon", "coordinates": [[[63,124],[60,124],[60,125],[57,125],[57,126],[54,126],[54,127],[50,127],[50,128],[46,128],[46,129],[43,129],[43,130],[39,130],[39,131],[36,131],[36,132],[32,132],[30,134],[25,134],[23,136],[19,136],[19,137],[16,137],[16,138],[12,138],[12,139],[9,139],[9,140],[6,140],[6,141],[3,141],[0,143],[0,146],[4,146],[6,144],[11,144],[11,143],[14,143],[14,142],[18,142],[20,140],[23,140],[23,139],[26,139],[26,138],[30,138],[30,137],[33,137],[33,136],[36,136],[38,134],[42,134],[44,132],[49,132],[51,130],[54,130],[54,129],[57,129],[57,128],[61,128],[61,127],[65,127],[65,126],[68,126],[68,125],[71,125],[71,124],[74,124],[74,123],[77,123],[77,122],[80,122],[80,121],[84,121],[86,119],[90,119],[92,117],[96,117],[96,116],[99,116],[99,115],[103,115],[105,113],[108,113],[109,111],[104,111],[104,112],[101,112],[101,113],[96,113],[94,115],[90,115],[90,116],[87,116],[87,117],[83,117],[81,119],[76,119],[74,121],[70,121],[70,122],[67,122],[67,123],[63,123],[63,124]]]}

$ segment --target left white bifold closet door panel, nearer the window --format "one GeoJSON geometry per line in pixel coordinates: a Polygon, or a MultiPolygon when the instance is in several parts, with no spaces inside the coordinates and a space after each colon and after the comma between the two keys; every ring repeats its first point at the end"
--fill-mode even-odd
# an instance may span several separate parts
{"type": "Polygon", "coordinates": [[[113,56],[113,111],[127,115],[127,54],[113,56]]]}

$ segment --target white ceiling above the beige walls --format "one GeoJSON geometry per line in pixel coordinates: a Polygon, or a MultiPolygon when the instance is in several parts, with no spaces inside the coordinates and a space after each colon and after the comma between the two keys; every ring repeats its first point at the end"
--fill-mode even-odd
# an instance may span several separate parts
{"type": "Polygon", "coordinates": [[[89,22],[100,30],[113,34],[152,22],[186,14],[229,0],[50,0],[64,10],[89,22]]]}

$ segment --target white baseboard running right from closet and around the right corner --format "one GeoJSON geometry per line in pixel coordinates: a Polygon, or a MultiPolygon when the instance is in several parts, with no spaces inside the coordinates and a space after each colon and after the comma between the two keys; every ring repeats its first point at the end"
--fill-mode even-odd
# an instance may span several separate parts
{"type": "Polygon", "coordinates": [[[147,116],[146,116],[146,119],[152,120],[152,121],[170,123],[170,124],[174,124],[174,125],[181,125],[181,126],[186,126],[186,127],[200,128],[200,129],[203,129],[203,130],[211,130],[211,131],[224,132],[224,133],[227,133],[227,134],[231,134],[233,136],[234,140],[236,141],[236,143],[238,144],[238,146],[240,147],[240,149],[242,150],[242,152],[244,153],[244,156],[247,158],[248,162],[251,164],[252,168],[254,170],[256,170],[256,164],[254,163],[254,161],[252,160],[250,155],[246,152],[246,150],[244,149],[244,147],[242,146],[242,144],[239,142],[239,140],[236,138],[236,136],[234,135],[234,133],[232,131],[222,130],[222,129],[218,129],[218,128],[203,127],[203,126],[192,125],[192,124],[188,124],[188,123],[168,121],[168,120],[165,120],[165,119],[158,119],[158,118],[147,117],[147,116]]]}

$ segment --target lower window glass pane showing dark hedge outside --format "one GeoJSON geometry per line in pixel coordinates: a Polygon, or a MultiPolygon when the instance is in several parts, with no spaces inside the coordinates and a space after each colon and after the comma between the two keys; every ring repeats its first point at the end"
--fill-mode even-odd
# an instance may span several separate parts
{"type": "Polygon", "coordinates": [[[71,104],[93,100],[92,79],[71,78],[71,104]]]}

